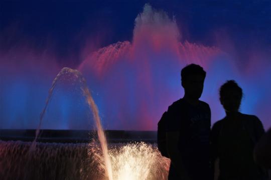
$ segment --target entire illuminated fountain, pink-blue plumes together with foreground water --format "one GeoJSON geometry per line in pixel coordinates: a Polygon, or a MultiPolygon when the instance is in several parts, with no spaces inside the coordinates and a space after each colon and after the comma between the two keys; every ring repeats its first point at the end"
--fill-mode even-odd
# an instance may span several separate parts
{"type": "MultiPolygon", "coordinates": [[[[125,130],[156,129],[162,112],[173,100],[179,98],[179,92],[182,92],[180,69],[190,63],[200,64],[208,71],[203,100],[212,108],[212,119],[220,119],[224,114],[219,98],[214,94],[218,94],[217,89],[227,79],[235,79],[248,90],[245,94],[253,94],[244,99],[246,102],[242,104],[248,104],[242,107],[244,112],[259,114],[260,119],[266,119],[264,125],[268,127],[271,89],[266,84],[270,84],[267,83],[270,82],[271,70],[269,53],[263,53],[264,49],[251,48],[250,52],[245,51],[244,59],[239,59],[243,54],[238,53],[238,47],[231,42],[227,33],[215,33],[218,43],[214,44],[215,47],[209,47],[188,42],[194,38],[185,37],[181,30],[175,18],[171,19],[166,12],[145,5],[143,12],[134,21],[132,41],[117,42],[92,51],[93,39],[90,39],[90,47],[87,45],[80,50],[82,62],[77,68],[93,82],[93,90],[106,99],[102,109],[108,127],[125,130]],[[240,62],[244,64],[237,60],[242,60],[240,62]],[[115,108],[111,108],[111,102],[116,104],[115,108]],[[126,121],[127,118],[129,121],[126,121]]],[[[22,44],[18,49],[14,47],[7,55],[0,55],[0,74],[5,79],[0,93],[2,128],[36,128],[36,121],[32,120],[37,117],[35,112],[40,111],[39,105],[44,101],[40,98],[44,92],[39,88],[47,89],[44,87],[48,86],[48,78],[52,78],[52,73],[57,73],[59,68],[58,63],[53,61],[58,56],[46,52],[50,51],[40,53],[40,48],[25,47],[22,44]],[[21,66],[21,62],[25,65],[21,66]],[[36,78],[29,78],[32,76],[36,78]],[[36,95],[29,98],[32,93],[36,95]]],[[[68,121],[66,117],[63,119],[68,121]]],[[[81,119],[84,121],[86,118],[81,119]]],[[[66,128],[63,124],[58,126],[55,123],[47,127],[66,128]]],[[[76,129],[72,125],[68,128],[76,129]]],[[[81,124],[80,128],[85,126],[81,124]]],[[[32,143],[0,140],[1,180],[167,179],[169,159],[161,156],[155,144],[107,144],[98,109],[84,78],[77,70],[64,68],[54,79],[40,115],[39,127],[32,136],[36,136],[32,143]],[[95,139],[98,141],[89,139],[89,143],[43,143],[38,138],[55,86],[66,77],[80,83],[80,93],[84,95],[96,122],[98,138],[95,139]],[[37,142],[38,139],[40,142],[37,142]]],[[[29,141],[33,140],[32,136],[29,141]]]]}

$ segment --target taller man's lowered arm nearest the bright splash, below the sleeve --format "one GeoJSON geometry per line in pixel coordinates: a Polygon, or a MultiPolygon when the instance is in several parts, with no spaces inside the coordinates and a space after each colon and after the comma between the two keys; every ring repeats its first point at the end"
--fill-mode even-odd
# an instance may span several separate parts
{"type": "Polygon", "coordinates": [[[179,176],[181,179],[185,180],[190,179],[188,172],[183,164],[182,154],[178,149],[180,132],[170,131],[167,132],[166,135],[167,135],[167,150],[174,168],[177,170],[177,172],[179,172],[179,176]]]}

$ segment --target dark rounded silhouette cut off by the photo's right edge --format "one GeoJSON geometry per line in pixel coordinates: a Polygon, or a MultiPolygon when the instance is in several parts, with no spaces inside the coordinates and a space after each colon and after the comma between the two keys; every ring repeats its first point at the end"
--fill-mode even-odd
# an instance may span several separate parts
{"type": "Polygon", "coordinates": [[[264,134],[254,148],[255,161],[266,167],[271,168],[271,128],[264,134]]]}

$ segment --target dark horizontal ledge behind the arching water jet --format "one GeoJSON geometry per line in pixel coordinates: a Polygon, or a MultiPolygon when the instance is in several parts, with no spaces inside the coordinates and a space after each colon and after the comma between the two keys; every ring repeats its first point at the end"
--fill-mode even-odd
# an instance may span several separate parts
{"type": "MultiPolygon", "coordinates": [[[[35,138],[35,131],[35,129],[0,129],[0,140],[33,141],[35,138]]],[[[157,141],[157,131],[105,130],[105,135],[109,143],[126,143],[140,141],[156,143],[157,141]]],[[[97,138],[97,131],[42,129],[40,131],[38,141],[79,143],[89,142],[92,138],[97,138]]]]}

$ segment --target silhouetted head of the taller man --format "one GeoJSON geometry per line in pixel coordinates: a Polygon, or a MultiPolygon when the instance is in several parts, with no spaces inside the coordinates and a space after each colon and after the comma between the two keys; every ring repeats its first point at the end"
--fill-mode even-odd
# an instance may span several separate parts
{"type": "Polygon", "coordinates": [[[185,96],[192,99],[199,99],[202,91],[206,72],[196,64],[190,64],[181,71],[182,86],[185,90],[185,96]]]}

